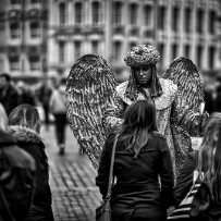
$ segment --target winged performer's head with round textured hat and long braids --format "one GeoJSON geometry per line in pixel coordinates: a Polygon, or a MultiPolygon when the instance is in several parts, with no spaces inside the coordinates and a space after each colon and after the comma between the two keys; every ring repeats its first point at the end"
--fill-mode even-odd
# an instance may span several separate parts
{"type": "Polygon", "coordinates": [[[162,94],[156,67],[159,60],[159,52],[150,45],[138,45],[126,53],[124,61],[132,70],[127,94],[132,100],[136,99],[134,97],[136,97],[136,90],[139,87],[149,87],[151,97],[162,94]]]}

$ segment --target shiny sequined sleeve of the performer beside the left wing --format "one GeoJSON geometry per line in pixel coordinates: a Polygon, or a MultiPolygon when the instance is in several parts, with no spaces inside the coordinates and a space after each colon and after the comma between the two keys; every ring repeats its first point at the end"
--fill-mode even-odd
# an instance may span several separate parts
{"type": "Polygon", "coordinates": [[[114,93],[112,102],[109,102],[103,111],[103,125],[108,133],[121,126],[124,111],[125,103],[118,94],[114,93]]]}

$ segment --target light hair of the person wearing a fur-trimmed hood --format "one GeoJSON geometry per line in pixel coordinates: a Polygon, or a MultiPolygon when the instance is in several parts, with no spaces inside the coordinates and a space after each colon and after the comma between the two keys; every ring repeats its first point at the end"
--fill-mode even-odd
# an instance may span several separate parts
{"type": "Polygon", "coordinates": [[[21,105],[9,115],[10,125],[21,125],[40,132],[40,118],[37,108],[30,105],[21,105]]]}

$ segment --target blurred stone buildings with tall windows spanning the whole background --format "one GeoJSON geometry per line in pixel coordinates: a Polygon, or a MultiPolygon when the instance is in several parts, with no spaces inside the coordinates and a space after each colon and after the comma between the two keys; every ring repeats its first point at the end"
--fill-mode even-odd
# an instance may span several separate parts
{"type": "Polygon", "coordinates": [[[184,56],[221,75],[220,0],[0,0],[0,72],[14,78],[66,76],[85,53],[127,77],[138,44],[159,50],[159,73],[184,56]]]}

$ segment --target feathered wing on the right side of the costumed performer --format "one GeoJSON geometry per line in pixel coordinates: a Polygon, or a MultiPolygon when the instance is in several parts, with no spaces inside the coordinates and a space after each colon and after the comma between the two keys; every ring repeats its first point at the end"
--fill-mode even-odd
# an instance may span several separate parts
{"type": "MultiPolygon", "coordinates": [[[[191,110],[193,113],[199,112],[200,103],[204,102],[204,82],[192,60],[183,57],[176,58],[172,61],[167,72],[163,74],[163,78],[171,79],[177,85],[180,95],[179,101],[176,102],[177,112],[181,113],[185,108],[191,110]]],[[[189,118],[194,118],[194,114],[189,118]]],[[[193,121],[188,121],[186,124],[184,122],[184,127],[182,125],[174,125],[174,127],[183,127],[192,137],[192,147],[196,149],[198,148],[201,139],[196,137],[197,135],[193,130],[194,127],[189,124],[189,122],[193,121]]],[[[172,130],[174,136],[176,137],[175,140],[181,140],[179,136],[183,136],[183,134],[175,133],[177,130],[173,128],[173,125],[172,130]]],[[[186,151],[186,148],[184,149],[186,151]]]]}

